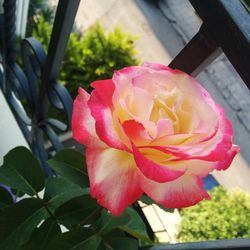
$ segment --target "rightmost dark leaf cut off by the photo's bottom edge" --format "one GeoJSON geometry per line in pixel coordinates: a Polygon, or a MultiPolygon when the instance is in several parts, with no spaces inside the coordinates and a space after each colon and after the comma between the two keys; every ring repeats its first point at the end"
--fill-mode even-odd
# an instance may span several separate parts
{"type": "Polygon", "coordinates": [[[105,246],[107,250],[138,250],[138,241],[128,237],[113,238],[105,246]]]}

